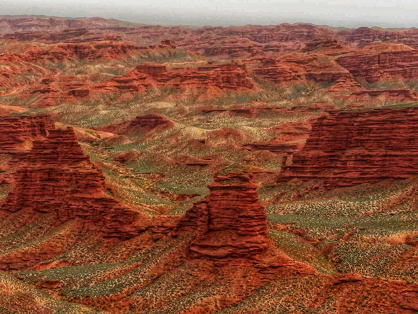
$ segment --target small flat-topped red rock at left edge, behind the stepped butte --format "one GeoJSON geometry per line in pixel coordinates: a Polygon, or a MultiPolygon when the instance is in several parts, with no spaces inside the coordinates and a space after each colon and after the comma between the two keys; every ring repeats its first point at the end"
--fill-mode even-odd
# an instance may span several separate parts
{"type": "Polygon", "coordinates": [[[31,141],[55,129],[48,115],[0,116],[0,153],[31,147],[31,141]]]}

